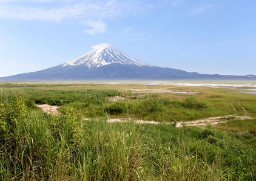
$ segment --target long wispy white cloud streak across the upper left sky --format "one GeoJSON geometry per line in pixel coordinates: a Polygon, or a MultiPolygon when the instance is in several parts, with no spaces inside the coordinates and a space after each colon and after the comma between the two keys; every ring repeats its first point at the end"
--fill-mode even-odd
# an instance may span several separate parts
{"type": "Polygon", "coordinates": [[[73,5],[56,8],[41,6],[6,5],[0,6],[0,17],[5,19],[61,21],[62,19],[78,19],[87,16],[113,16],[116,11],[111,1],[84,1],[73,5]]]}

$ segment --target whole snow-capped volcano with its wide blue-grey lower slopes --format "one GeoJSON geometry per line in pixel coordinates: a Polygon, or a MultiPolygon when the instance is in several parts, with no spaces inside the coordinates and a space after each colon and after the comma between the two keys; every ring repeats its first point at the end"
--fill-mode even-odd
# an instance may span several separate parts
{"type": "Polygon", "coordinates": [[[92,46],[84,56],[42,71],[0,78],[0,81],[43,80],[256,80],[255,75],[210,75],[161,68],[140,62],[109,43],[92,46]]]}

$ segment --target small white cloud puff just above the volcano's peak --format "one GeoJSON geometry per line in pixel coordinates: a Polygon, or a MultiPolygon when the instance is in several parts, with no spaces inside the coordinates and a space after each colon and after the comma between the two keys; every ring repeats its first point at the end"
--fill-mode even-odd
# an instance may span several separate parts
{"type": "Polygon", "coordinates": [[[92,27],[88,30],[84,30],[84,32],[88,34],[98,34],[98,33],[104,33],[106,31],[106,24],[103,21],[86,21],[84,23],[85,25],[92,27]]]}

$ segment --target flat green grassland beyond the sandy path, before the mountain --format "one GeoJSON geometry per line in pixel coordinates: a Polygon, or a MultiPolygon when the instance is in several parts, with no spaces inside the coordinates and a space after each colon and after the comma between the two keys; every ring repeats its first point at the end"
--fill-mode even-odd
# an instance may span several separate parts
{"type": "MultiPolygon", "coordinates": [[[[192,121],[221,115],[244,115],[240,105],[250,116],[256,115],[256,97],[237,94],[229,89],[197,87],[169,88],[173,91],[195,91],[197,95],[132,94],[120,89],[145,88],[143,85],[104,84],[2,84],[8,95],[22,94],[25,105],[35,110],[36,104],[50,104],[75,109],[86,118],[134,118],[160,122],[192,121]],[[111,103],[113,96],[124,100],[111,103]],[[232,109],[234,104],[237,112],[232,109]],[[238,104],[240,103],[240,104],[238,104]]],[[[155,86],[152,88],[163,88],[155,86]]],[[[256,116],[255,116],[256,118],[256,116]]]]}

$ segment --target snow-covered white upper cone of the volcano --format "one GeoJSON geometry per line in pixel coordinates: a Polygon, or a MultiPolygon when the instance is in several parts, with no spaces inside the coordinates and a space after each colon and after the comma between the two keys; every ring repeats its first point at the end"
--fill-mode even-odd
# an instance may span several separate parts
{"type": "Polygon", "coordinates": [[[136,65],[136,66],[152,66],[146,63],[140,62],[127,56],[123,52],[115,48],[115,46],[109,43],[102,43],[92,46],[93,50],[85,54],[84,56],[73,59],[70,62],[65,63],[63,66],[81,66],[84,65],[87,68],[99,67],[109,65],[112,63],[120,63],[123,65],[136,65]]]}

